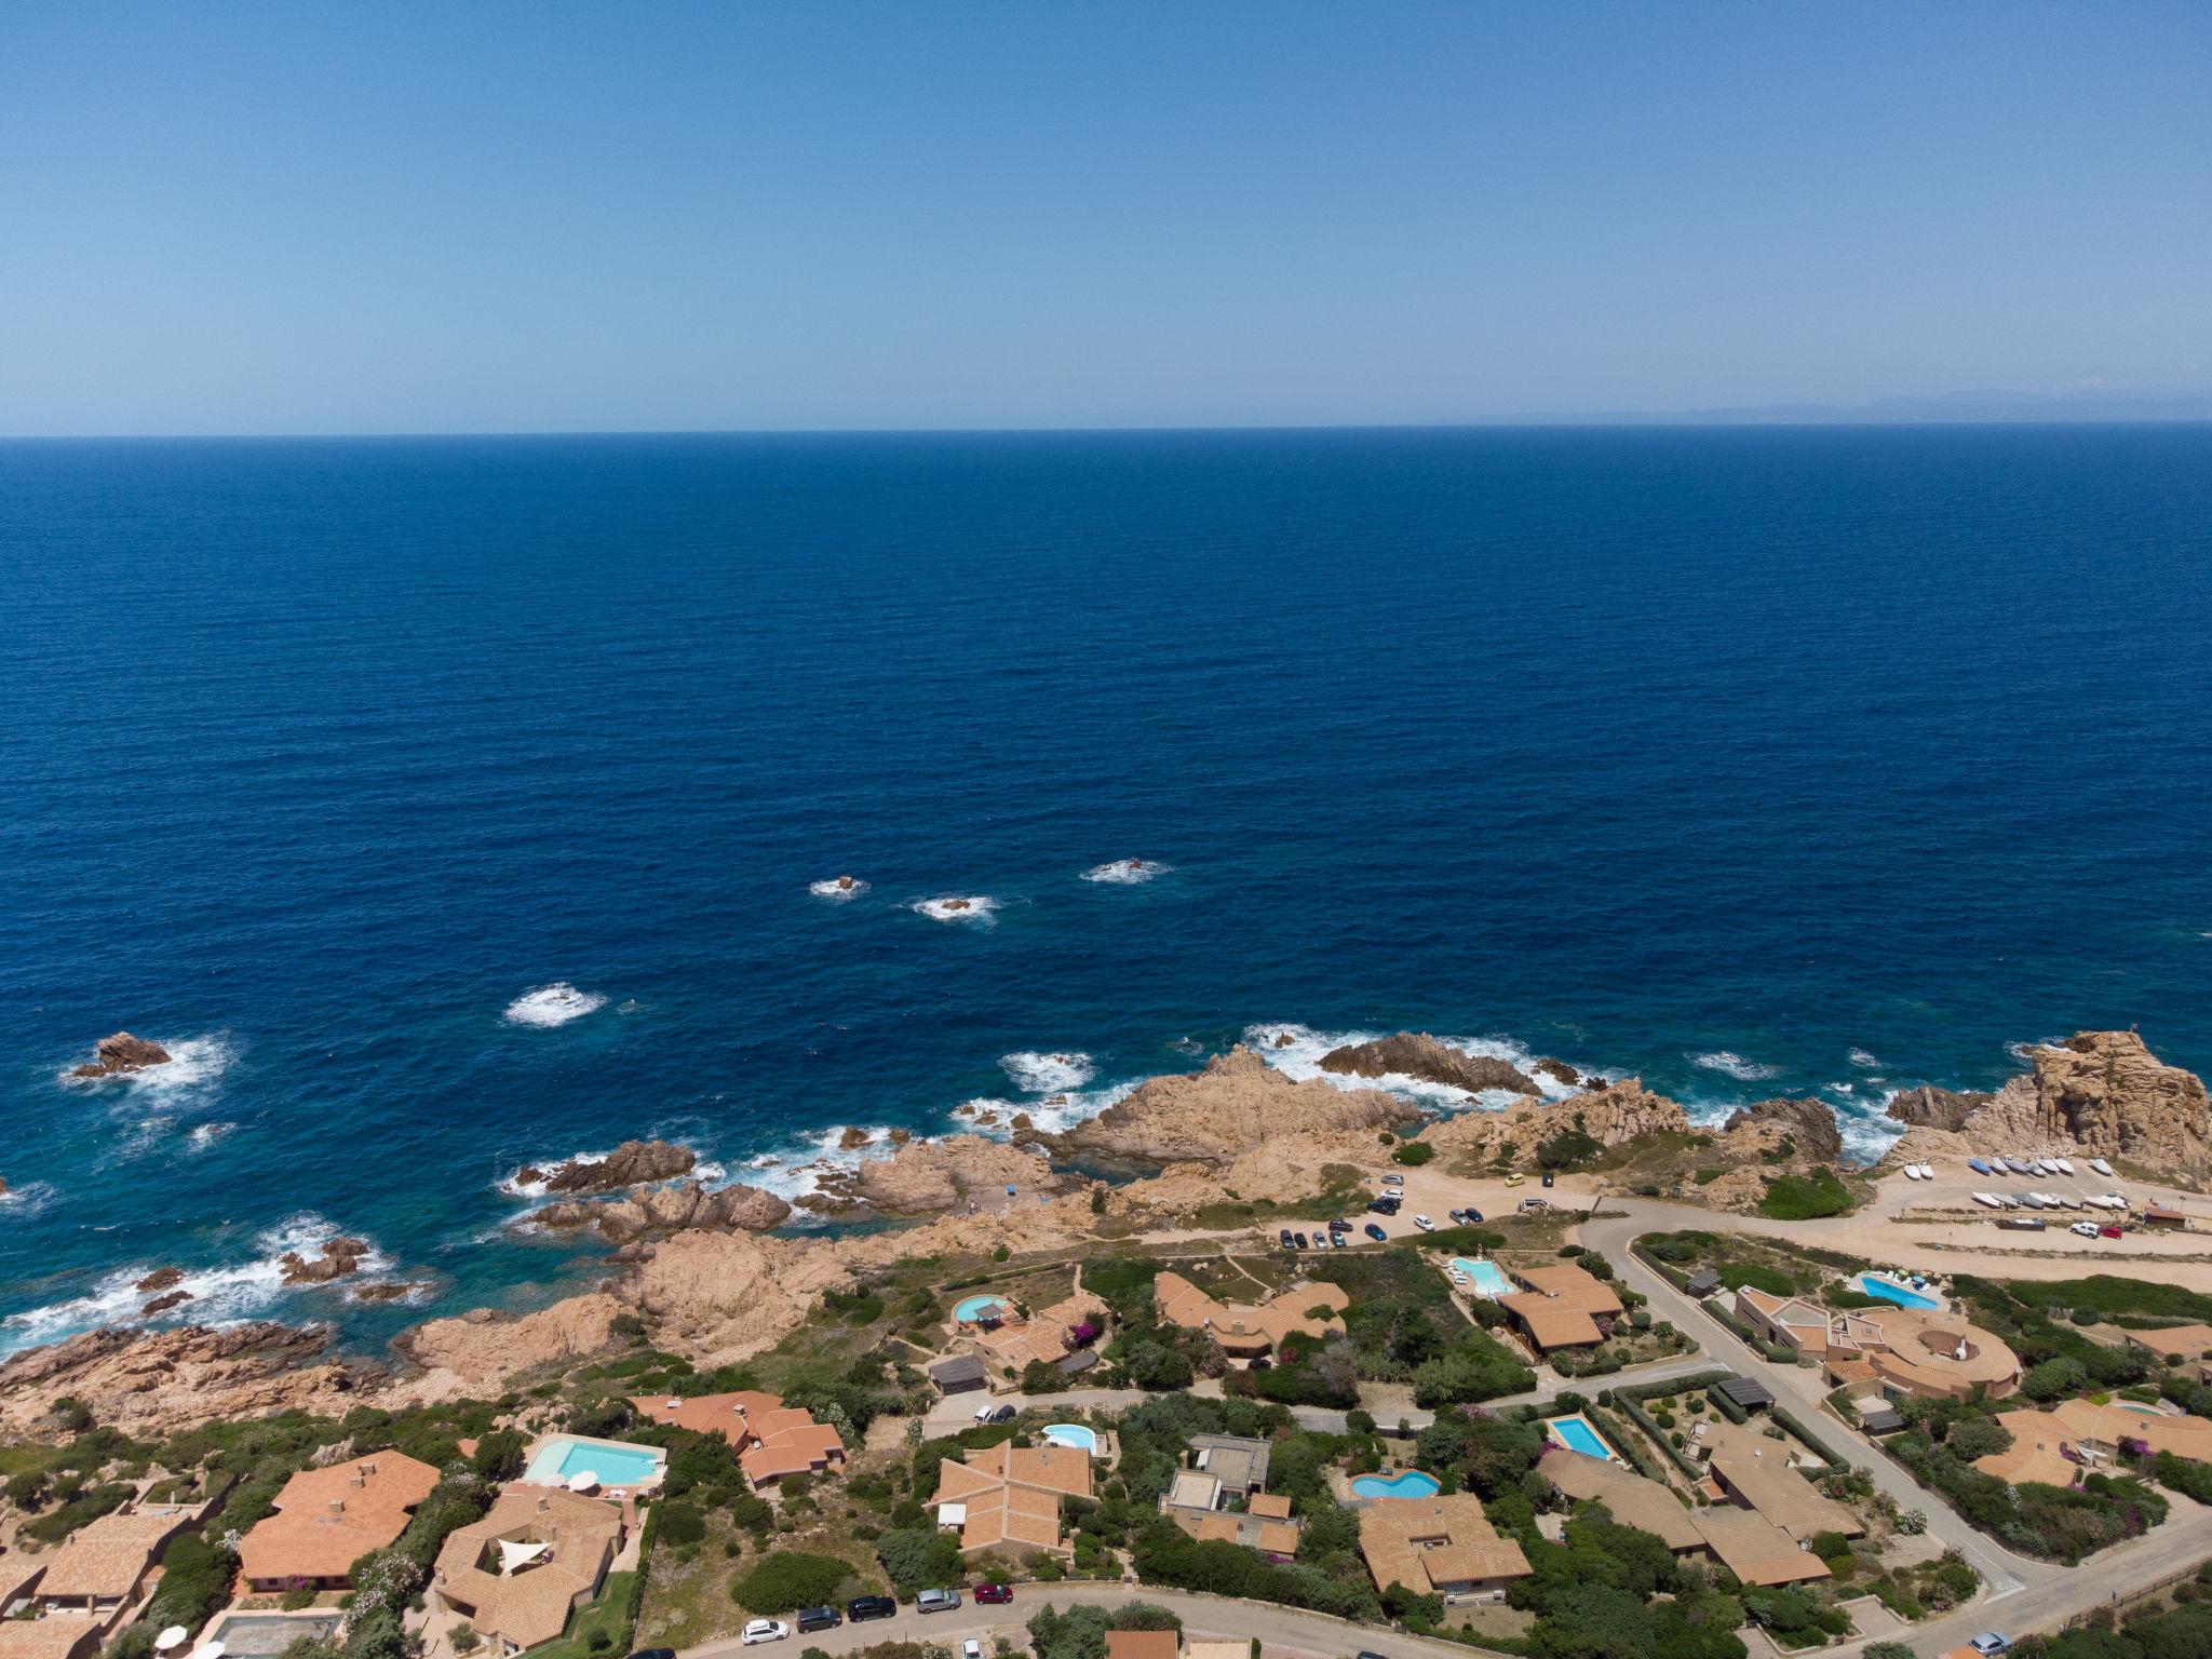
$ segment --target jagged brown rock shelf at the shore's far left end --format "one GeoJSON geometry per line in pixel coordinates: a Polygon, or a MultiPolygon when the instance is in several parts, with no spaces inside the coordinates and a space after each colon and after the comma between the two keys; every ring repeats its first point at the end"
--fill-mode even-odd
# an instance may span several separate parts
{"type": "Polygon", "coordinates": [[[0,1431],[51,1429],[62,1398],[82,1400],[93,1422],[133,1436],[292,1409],[334,1416],[356,1402],[358,1378],[319,1360],[325,1345],[321,1327],[270,1323],[86,1332],[0,1365],[0,1431]]]}

